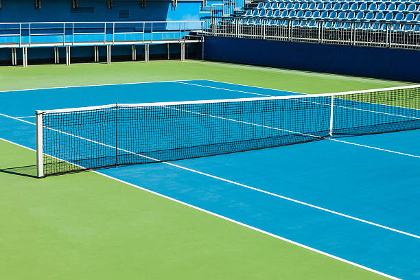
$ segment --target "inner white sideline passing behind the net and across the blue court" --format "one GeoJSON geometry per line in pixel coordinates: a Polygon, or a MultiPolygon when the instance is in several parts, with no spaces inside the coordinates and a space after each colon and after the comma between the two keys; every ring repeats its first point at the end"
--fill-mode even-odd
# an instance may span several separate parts
{"type": "MultiPolygon", "coordinates": [[[[16,119],[16,120],[19,120],[19,121],[24,121],[23,119],[17,119],[17,118],[15,118],[15,117],[10,117],[10,116],[8,116],[8,115],[4,115],[4,114],[1,114],[1,113],[0,113],[0,115],[3,115],[4,117],[9,117],[9,118],[11,118],[11,119],[16,119]]],[[[26,122],[27,124],[32,124],[32,125],[35,125],[35,124],[31,123],[30,121],[24,121],[24,122],[26,122]]],[[[101,143],[101,142],[98,142],[98,141],[94,141],[94,140],[91,140],[91,139],[86,139],[86,138],[84,138],[84,137],[80,137],[80,136],[78,136],[78,135],[71,135],[70,133],[63,132],[63,131],[60,131],[60,130],[56,130],[56,129],[54,129],[54,128],[47,128],[47,127],[45,127],[45,128],[46,128],[46,129],[49,129],[49,130],[52,130],[52,131],[55,131],[55,132],[62,133],[62,134],[64,134],[64,135],[69,135],[69,136],[71,136],[71,137],[75,137],[75,138],[78,138],[78,139],[82,139],[82,140],[84,140],[84,141],[88,141],[88,142],[95,143],[95,144],[98,144],[98,145],[103,145],[104,147],[112,148],[112,149],[115,149],[115,150],[120,150],[121,152],[126,152],[126,153],[128,153],[128,154],[135,154],[136,156],[141,156],[141,157],[143,157],[143,158],[145,158],[145,159],[150,159],[150,160],[152,160],[152,161],[161,162],[161,163],[164,163],[164,164],[167,164],[167,165],[171,165],[171,166],[174,166],[174,167],[178,167],[178,168],[183,169],[183,170],[187,170],[187,171],[190,171],[190,172],[194,172],[194,173],[197,173],[197,174],[201,174],[201,175],[204,175],[204,176],[208,176],[208,177],[211,177],[211,178],[215,178],[215,179],[217,179],[217,180],[222,180],[222,181],[224,181],[224,182],[226,182],[226,183],[231,183],[231,184],[233,184],[233,185],[238,185],[238,186],[240,186],[240,187],[245,187],[245,188],[247,188],[247,189],[253,189],[254,191],[259,191],[259,192],[261,192],[261,193],[263,193],[263,194],[268,194],[268,195],[270,195],[270,196],[275,196],[275,197],[277,197],[277,198],[282,198],[282,199],[284,199],[284,200],[289,200],[289,201],[292,201],[292,202],[296,202],[296,203],[299,203],[299,204],[301,204],[301,205],[305,205],[305,206],[307,206],[307,207],[312,207],[312,208],[314,208],[314,209],[318,209],[318,210],[325,211],[325,212],[328,212],[328,213],[333,213],[333,214],[336,214],[336,215],[340,215],[340,216],[342,216],[342,217],[349,218],[349,219],[351,219],[351,220],[356,220],[356,221],[358,221],[358,222],[364,222],[365,224],[371,224],[371,225],[373,225],[373,226],[377,226],[377,227],[380,227],[380,228],[382,228],[382,229],[387,229],[388,231],[394,231],[394,232],[396,232],[396,233],[401,233],[401,234],[404,234],[404,235],[408,235],[408,236],[411,236],[411,237],[415,237],[415,238],[417,238],[417,239],[420,239],[420,236],[419,236],[419,235],[415,235],[415,234],[412,234],[412,233],[407,233],[406,231],[400,231],[400,230],[398,230],[398,229],[393,229],[393,228],[391,228],[391,227],[389,227],[389,226],[383,226],[382,224],[377,224],[377,223],[375,223],[375,222],[370,222],[370,221],[368,221],[368,220],[363,220],[363,219],[360,219],[360,218],[355,218],[355,217],[353,217],[353,216],[351,216],[351,215],[347,215],[347,214],[344,214],[344,213],[340,213],[340,212],[338,212],[338,211],[333,211],[333,210],[329,210],[329,209],[326,209],[326,208],[323,208],[323,207],[319,207],[319,206],[316,206],[316,205],[312,205],[312,204],[310,204],[310,203],[303,202],[303,201],[301,201],[301,200],[296,200],[296,199],[293,199],[293,198],[288,198],[287,196],[281,196],[281,195],[279,195],[279,194],[275,194],[275,193],[272,193],[272,192],[270,192],[270,191],[264,191],[263,189],[258,189],[258,188],[256,188],[256,187],[250,187],[250,186],[248,186],[248,185],[244,185],[244,184],[241,184],[241,183],[237,183],[237,182],[235,182],[235,181],[233,181],[233,180],[228,180],[228,179],[225,179],[225,178],[222,178],[222,177],[214,176],[214,175],[211,175],[211,174],[208,174],[208,173],[205,173],[205,172],[200,172],[200,171],[198,171],[198,170],[193,170],[193,169],[191,169],[191,168],[188,168],[188,167],[183,167],[183,166],[181,166],[181,165],[176,165],[176,164],[171,163],[171,162],[167,162],[167,161],[160,161],[159,159],[154,159],[154,158],[152,158],[152,157],[150,157],[150,156],[145,156],[145,155],[143,155],[143,154],[138,154],[138,153],[136,153],[136,152],[132,152],[132,151],[129,151],[129,150],[124,150],[124,149],[121,149],[121,148],[117,148],[117,147],[114,147],[114,146],[112,146],[112,145],[108,145],[108,144],[101,143]]]]}

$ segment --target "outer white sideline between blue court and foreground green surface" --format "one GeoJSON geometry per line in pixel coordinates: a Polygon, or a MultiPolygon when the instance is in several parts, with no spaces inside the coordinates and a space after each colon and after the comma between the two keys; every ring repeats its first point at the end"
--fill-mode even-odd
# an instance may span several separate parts
{"type": "MultiPolygon", "coordinates": [[[[18,143],[14,143],[14,142],[12,142],[12,141],[9,141],[9,140],[3,139],[3,138],[0,138],[0,140],[6,141],[6,142],[8,142],[8,143],[12,143],[12,144],[14,144],[14,145],[18,145],[19,147],[22,147],[22,148],[25,148],[25,149],[32,150],[32,151],[36,152],[36,151],[35,151],[34,149],[32,149],[32,148],[25,147],[24,145],[20,145],[20,144],[18,144],[18,143]]],[[[353,262],[353,261],[348,261],[347,259],[342,259],[341,257],[337,257],[337,256],[335,256],[335,255],[331,255],[331,254],[329,254],[329,253],[325,253],[325,252],[323,252],[323,251],[321,251],[321,250],[318,250],[318,249],[316,249],[316,248],[312,248],[312,247],[310,247],[310,246],[306,246],[306,245],[301,244],[301,243],[299,243],[299,242],[294,242],[294,241],[289,240],[289,239],[287,239],[287,238],[285,238],[285,237],[281,237],[281,236],[279,236],[279,235],[275,235],[275,234],[273,234],[273,233],[269,233],[268,231],[264,231],[264,230],[262,230],[262,229],[259,229],[259,228],[255,227],[255,226],[250,226],[250,225],[248,225],[248,224],[244,224],[244,223],[239,222],[239,221],[237,221],[237,220],[233,220],[233,219],[231,219],[231,218],[227,218],[227,217],[225,217],[224,215],[219,215],[218,213],[214,213],[214,212],[208,211],[208,210],[206,210],[206,209],[202,209],[202,208],[200,208],[200,207],[196,207],[196,206],[194,206],[194,205],[190,205],[190,204],[189,204],[189,203],[187,203],[187,202],[183,202],[183,201],[181,201],[181,200],[177,200],[177,199],[175,199],[175,198],[171,198],[170,196],[165,196],[164,194],[160,194],[160,193],[158,193],[158,192],[156,192],[156,191],[152,191],[152,190],[150,190],[150,189],[145,189],[144,187],[140,187],[140,186],[138,186],[138,185],[134,185],[134,184],[132,184],[132,183],[128,183],[128,182],[126,182],[126,181],[124,181],[124,180],[121,180],[121,179],[115,178],[115,177],[113,177],[113,176],[109,176],[109,175],[106,175],[106,174],[102,174],[101,172],[97,172],[97,171],[95,171],[95,170],[90,170],[90,171],[91,171],[91,172],[93,172],[93,173],[95,173],[95,174],[98,174],[98,175],[100,175],[100,176],[104,176],[104,177],[106,177],[106,178],[110,178],[110,179],[112,179],[112,180],[116,180],[116,181],[118,181],[118,182],[120,182],[120,183],[124,183],[124,184],[126,184],[126,185],[130,185],[130,186],[135,187],[135,188],[137,188],[137,189],[141,189],[141,190],[143,190],[143,191],[147,191],[147,192],[148,192],[148,193],[150,193],[150,194],[154,194],[154,195],[156,195],[156,196],[160,196],[160,197],[162,197],[162,198],[166,198],[166,199],[168,199],[168,200],[172,200],[172,201],[174,201],[174,202],[178,202],[178,203],[180,203],[181,205],[185,205],[185,206],[187,206],[187,207],[191,207],[191,208],[193,208],[193,209],[196,209],[196,210],[198,210],[198,211],[202,211],[202,212],[207,213],[207,214],[209,214],[209,215],[213,215],[213,216],[218,217],[218,218],[221,218],[221,219],[223,219],[223,220],[227,220],[227,221],[229,221],[229,222],[233,222],[233,223],[238,224],[238,225],[240,225],[240,226],[244,226],[244,227],[246,227],[246,228],[248,228],[248,229],[252,229],[252,230],[254,230],[254,231],[258,231],[259,233],[263,233],[263,234],[265,234],[265,235],[269,235],[269,236],[271,236],[271,237],[275,237],[275,238],[277,238],[277,239],[279,239],[279,240],[282,240],[282,241],[284,241],[284,242],[288,242],[288,243],[290,243],[290,244],[294,244],[294,245],[299,246],[299,247],[301,247],[301,248],[305,248],[305,249],[307,249],[307,250],[311,250],[311,251],[313,251],[313,252],[315,252],[315,253],[319,253],[319,254],[321,254],[321,255],[325,255],[326,257],[331,257],[331,258],[333,258],[333,259],[337,259],[338,261],[342,261],[342,262],[344,262],[344,263],[346,263],[346,264],[350,264],[350,265],[352,265],[352,266],[356,266],[356,267],[358,267],[358,268],[362,268],[362,269],[364,269],[364,270],[368,270],[368,271],[370,271],[370,272],[376,273],[377,275],[382,275],[382,276],[384,276],[384,277],[388,277],[389,279],[401,280],[400,278],[393,277],[393,276],[391,276],[391,275],[387,275],[387,274],[386,274],[386,273],[384,273],[384,272],[380,272],[380,271],[378,271],[378,270],[374,270],[374,269],[372,269],[372,268],[368,268],[368,267],[366,267],[366,266],[362,266],[362,265],[360,265],[360,264],[356,264],[356,263],[355,263],[355,262],[353,262]]]]}

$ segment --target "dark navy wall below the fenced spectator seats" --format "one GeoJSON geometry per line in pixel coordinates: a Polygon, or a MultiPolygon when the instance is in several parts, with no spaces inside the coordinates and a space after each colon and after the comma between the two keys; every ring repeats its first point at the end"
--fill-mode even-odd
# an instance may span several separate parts
{"type": "Polygon", "coordinates": [[[420,82],[420,51],[205,38],[205,59],[420,82]]]}

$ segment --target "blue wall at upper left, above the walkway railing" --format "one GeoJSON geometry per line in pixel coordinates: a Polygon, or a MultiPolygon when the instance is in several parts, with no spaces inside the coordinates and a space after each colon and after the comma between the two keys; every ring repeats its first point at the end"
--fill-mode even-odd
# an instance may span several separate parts
{"type": "MultiPolygon", "coordinates": [[[[79,7],[93,7],[94,12],[71,12],[71,0],[41,0],[41,9],[34,8],[34,0],[2,0],[0,22],[34,21],[196,21],[201,16],[202,1],[180,1],[172,10],[170,1],[146,1],[146,8],[140,8],[140,1],[114,1],[112,9],[106,8],[106,1],[79,0],[79,7]],[[119,10],[129,10],[128,19],[119,18],[119,10]]],[[[220,1],[209,1],[218,3],[220,1]]]]}

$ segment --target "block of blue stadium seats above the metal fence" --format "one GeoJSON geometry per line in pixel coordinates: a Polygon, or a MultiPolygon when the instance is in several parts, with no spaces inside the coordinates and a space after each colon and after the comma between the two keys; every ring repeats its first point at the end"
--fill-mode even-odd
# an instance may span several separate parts
{"type": "Polygon", "coordinates": [[[308,21],[314,19],[336,30],[349,29],[353,23],[359,30],[383,31],[389,26],[393,31],[417,32],[420,0],[266,0],[246,10],[244,16],[255,18],[240,21],[246,25],[288,26],[291,22],[292,27],[311,27],[314,24],[308,21]]]}

